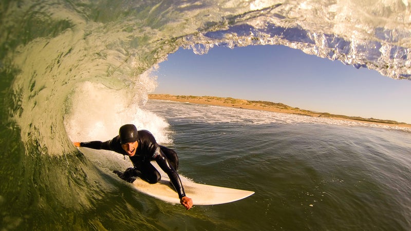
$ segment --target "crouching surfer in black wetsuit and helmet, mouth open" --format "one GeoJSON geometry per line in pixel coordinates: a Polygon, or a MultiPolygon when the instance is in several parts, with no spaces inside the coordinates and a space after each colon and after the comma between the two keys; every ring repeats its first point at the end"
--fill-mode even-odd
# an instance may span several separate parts
{"type": "Polygon", "coordinates": [[[118,174],[125,181],[132,183],[135,177],[150,184],[155,184],[161,179],[160,172],[150,163],[155,160],[160,168],[169,176],[171,184],[177,191],[180,203],[190,209],[193,200],[185,196],[180,177],[177,174],[177,153],[170,148],[157,144],[154,136],[147,130],[137,131],[133,124],[125,124],[120,127],[119,135],[115,138],[102,142],[73,142],[76,147],[87,147],[92,149],[104,149],[127,155],[133,162],[134,168],[127,168],[123,174],[118,174]]]}

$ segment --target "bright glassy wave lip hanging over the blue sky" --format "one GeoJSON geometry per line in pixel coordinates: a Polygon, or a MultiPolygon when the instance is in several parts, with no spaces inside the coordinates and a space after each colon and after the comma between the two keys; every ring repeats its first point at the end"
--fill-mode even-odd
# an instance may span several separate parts
{"type": "Polygon", "coordinates": [[[213,46],[284,45],[394,79],[411,80],[408,6],[310,1],[284,3],[207,23],[185,47],[207,53],[213,46]],[[402,15],[398,17],[397,15],[402,15]],[[375,18],[379,20],[375,20],[375,18]]]}

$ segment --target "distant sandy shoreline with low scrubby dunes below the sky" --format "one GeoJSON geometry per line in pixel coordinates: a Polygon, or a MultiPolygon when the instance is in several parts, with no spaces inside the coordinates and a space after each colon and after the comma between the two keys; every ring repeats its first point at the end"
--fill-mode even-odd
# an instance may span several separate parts
{"type": "Polygon", "coordinates": [[[289,114],[300,114],[309,117],[325,117],[334,120],[346,120],[346,121],[357,121],[361,123],[372,123],[381,124],[387,126],[397,126],[397,127],[407,127],[411,128],[410,124],[399,123],[397,121],[391,120],[380,120],[373,118],[362,118],[362,117],[348,117],[346,115],[330,114],[326,112],[313,112],[308,110],[303,110],[296,107],[290,107],[282,103],[273,103],[268,101],[249,101],[240,100],[233,98],[221,98],[221,97],[210,97],[210,96],[193,96],[193,95],[171,95],[171,94],[149,94],[149,99],[153,100],[170,100],[176,102],[188,102],[193,104],[206,104],[215,106],[226,106],[234,108],[244,108],[251,110],[263,110],[263,111],[273,111],[279,113],[289,113],[289,114]]]}

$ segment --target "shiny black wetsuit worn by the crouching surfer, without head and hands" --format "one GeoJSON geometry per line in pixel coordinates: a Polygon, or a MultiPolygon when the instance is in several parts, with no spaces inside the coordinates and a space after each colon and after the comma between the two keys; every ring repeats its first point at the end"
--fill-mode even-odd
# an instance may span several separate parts
{"type": "MultiPolygon", "coordinates": [[[[127,155],[127,152],[121,147],[119,136],[105,142],[82,142],[80,146],[110,150],[127,155]]],[[[147,130],[138,131],[138,147],[135,155],[129,158],[133,162],[134,169],[141,172],[142,179],[151,184],[155,184],[161,179],[158,170],[150,163],[152,160],[155,160],[160,168],[169,176],[171,183],[178,193],[178,197],[180,199],[185,197],[184,188],[177,174],[177,153],[173,149],[157,144],[152,133],[147,130]]]]}

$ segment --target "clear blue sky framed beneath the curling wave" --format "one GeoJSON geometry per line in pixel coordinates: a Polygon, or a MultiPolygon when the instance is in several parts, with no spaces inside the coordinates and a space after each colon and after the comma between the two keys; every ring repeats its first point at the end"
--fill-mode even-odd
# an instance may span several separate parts
{"type": "Polygon", "coordinates": [[[411,124],[411,81],[285,46],[179,49],[160,64],[153,93],[284,103],[300,109],[411,124]]]}

